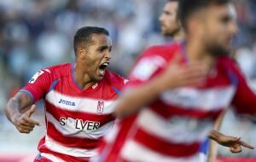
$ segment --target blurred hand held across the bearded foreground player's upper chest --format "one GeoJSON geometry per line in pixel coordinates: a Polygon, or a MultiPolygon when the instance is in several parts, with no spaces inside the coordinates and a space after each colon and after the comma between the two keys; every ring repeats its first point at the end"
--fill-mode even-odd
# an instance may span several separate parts
{"type": "Polygon", "coordinates": [[[201,86],[207,76],[207,67],[201,62],[181,65],[181,55],[177,54],[166,71],[160,76],[162,90],[182,86],[201,86]]]}

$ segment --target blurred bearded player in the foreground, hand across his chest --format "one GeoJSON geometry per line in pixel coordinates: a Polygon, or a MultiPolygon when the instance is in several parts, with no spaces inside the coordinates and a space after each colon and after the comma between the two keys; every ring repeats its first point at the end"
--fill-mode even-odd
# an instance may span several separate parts
{"type": "Polygon", "coordinates": [[[229,5],[180,1],[185,41],[150,47],[138,59],[115,109],[125,118],[105,137],[100,161],[198,162],[225,107],[255,115],[256,95],[228,56],[237,30],[229,5]]]}

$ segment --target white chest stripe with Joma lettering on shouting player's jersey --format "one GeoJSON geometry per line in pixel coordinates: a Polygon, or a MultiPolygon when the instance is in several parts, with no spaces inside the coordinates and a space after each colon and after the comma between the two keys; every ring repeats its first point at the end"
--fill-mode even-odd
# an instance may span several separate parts
{"type": "MultiPolygon", "coordinates": [[[[73,97],[62,95],[55,90],[49,91],[45,99],[55,107],[69,110],[73,112],[94,113],[97,114],[98,101],[91,98],[73,97]]],[[[113,108],[116,101],[103,101],[103,110],[101,114],[113,113],[113,108]]]]}

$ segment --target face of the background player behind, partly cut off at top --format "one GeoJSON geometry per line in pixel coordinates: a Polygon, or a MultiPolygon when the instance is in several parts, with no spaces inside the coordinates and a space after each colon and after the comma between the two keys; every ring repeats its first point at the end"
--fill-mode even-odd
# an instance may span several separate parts
{"type": "Polygon", "coordinates": [[[172,36],[179,31],[177,22],[177,2],[166,3],[163,13],[160,15],[161,32],[165,36],[172,36]]]}

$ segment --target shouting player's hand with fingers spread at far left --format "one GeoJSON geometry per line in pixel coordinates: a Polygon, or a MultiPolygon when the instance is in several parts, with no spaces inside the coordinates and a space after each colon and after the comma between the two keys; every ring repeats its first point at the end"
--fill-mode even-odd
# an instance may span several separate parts
{"type": "Polygon", "coordinates": [[[25,113],[21,113],[13,120],[16,129],[19,130],[20,133],[28,134],[33,130],[35,125],[40,126],[38,121],[31,119],[31,115],[35,112],[35,110],[36,105],[32,105],[29,110],[27,110],[25,113]]]}

